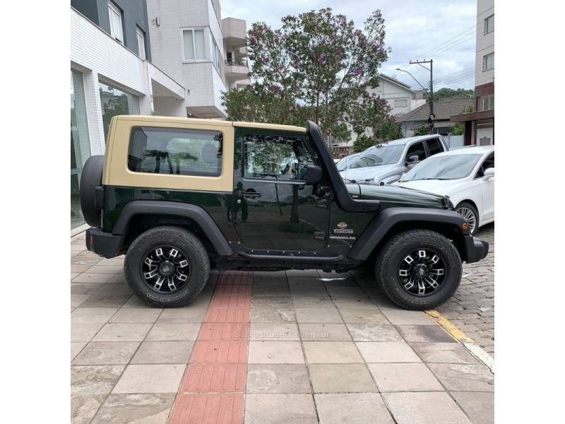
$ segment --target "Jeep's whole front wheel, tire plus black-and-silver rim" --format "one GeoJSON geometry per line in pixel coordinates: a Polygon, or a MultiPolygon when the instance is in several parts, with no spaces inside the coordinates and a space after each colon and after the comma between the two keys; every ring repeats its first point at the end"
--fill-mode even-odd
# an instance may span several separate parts
{"type": "Polygon", "coordinates": [[[429,310],[451,298],[462,269],[459,252],[446,237],[430,230],[408,230],[383,246],[375,275],[396,305],[429,310]]]}

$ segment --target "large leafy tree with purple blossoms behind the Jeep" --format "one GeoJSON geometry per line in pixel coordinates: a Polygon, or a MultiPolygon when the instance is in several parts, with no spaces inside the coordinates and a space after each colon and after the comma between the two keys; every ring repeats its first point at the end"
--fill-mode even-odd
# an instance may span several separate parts
{"type": "Polygon", "coordinates": [[[389,114],[367,91],[388,58],[381,12],[371,13],[363,30],[331,8],[281,21],[275,30],[262,22],[251,25],[253,83],[223,93],[229,119],[299,125],[311,119],[324,136],[341,140],[367,127],[388,134],[389,114]]]}

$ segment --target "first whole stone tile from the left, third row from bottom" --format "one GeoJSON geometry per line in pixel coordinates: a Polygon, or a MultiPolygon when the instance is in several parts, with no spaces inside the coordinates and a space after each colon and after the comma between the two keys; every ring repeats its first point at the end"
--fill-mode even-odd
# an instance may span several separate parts
{"type": "Polygon", "coordinates": [[[129,363],[138,341],[91,341],[73,360],[73,365],[122,365],[129,363]]]}

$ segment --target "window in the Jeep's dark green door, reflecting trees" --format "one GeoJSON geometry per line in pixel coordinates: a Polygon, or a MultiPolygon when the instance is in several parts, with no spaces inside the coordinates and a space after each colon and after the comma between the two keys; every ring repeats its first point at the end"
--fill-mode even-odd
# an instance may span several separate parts
{"type": "Polygon", "coordinates": [[[243,138],[244,177],[304,180],[314,160],[304,139],[248,134],[243,138]]]}

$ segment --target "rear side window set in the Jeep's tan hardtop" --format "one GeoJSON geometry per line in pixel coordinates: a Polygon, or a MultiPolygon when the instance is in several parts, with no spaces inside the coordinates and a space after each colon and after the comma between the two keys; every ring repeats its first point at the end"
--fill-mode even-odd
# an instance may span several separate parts
{"type": "Polygon", "coordinates": [[[218,177],[222,133],[138,126],[131,130],[128,168],[133,172],[218,177]]]}

